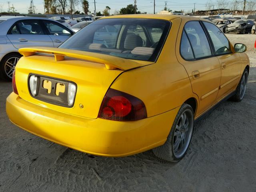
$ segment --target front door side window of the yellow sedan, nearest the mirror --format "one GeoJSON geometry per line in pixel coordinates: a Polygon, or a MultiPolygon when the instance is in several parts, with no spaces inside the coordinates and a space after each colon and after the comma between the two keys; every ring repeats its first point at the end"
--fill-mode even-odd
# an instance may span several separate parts
{"type": "Polygon", "coordinates": [[[212,39],[216,55],[230,53],[230,45],[226,36],[214,24],[203,22],[212,39]]]}

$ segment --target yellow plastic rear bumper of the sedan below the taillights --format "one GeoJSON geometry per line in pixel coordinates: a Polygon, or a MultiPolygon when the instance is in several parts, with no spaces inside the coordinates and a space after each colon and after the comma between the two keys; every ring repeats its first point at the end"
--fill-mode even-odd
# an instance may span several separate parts
{"type": "Polygon", "coordinates": [[[83,118],[26,102],[11,93],[6,113],[20,128],[99,156],[128,156],[164,144],[179,108],[134,122],[83,118]]]}

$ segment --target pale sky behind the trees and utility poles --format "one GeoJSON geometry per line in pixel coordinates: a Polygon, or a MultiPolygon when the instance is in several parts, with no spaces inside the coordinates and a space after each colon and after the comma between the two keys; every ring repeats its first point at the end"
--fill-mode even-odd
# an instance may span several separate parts
{"type": "MultiPolygon", "coordinates": [[[[0,8],[4,11],[8,10],[8,0],[3,1],[0,0],[0,8]]],[[[12,4],[19,13],[28,13],[28,8],[30,6],[30,0],[9,0],[10,7],[12,4]]],[[[81,0],[82,1],[82,0],[81,0]]],[[[96,1],[96,11],[102,12],[106,6],[111,8],[110,14],[114,14],[116,10],[120,10],[123,7],[126,7],[128,4],[134,4],[134,0],[95,0],[96,1]]],[[[137,8],[141,12],[154,13],[154,0],[136,0],[137,8]]],[[[215,0],[208,0],[215,3],[215,0]]],[[[88,0],[89,2],[89,10],[94,12],[94,0],[88,0]]],[[[196,10],[205,10],[206,9],[207,0],[181,0],[181,1],[168,1],[166,0],[166,7],[171,10],[190,10],[194,9],[194,3],[196,10]]],[[[165,1],[164,0],[155,0],[156,4],[156,12],[160,12],[164,9],[165,1]]],[[[34,0],[35,12],[36,13],[44,13],[44,1],[43,0],[34,0]]],[[[76,10],[80,10],[82,12],[82,6],[75,6],[76,10]]]]}

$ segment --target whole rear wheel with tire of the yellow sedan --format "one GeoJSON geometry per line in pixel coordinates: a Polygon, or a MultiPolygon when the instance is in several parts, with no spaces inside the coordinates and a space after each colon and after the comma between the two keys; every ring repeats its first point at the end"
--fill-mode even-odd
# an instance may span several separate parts
{"type": "Polygon", "coordinates": [[[178,162],[188,150],[194,126],[194,110],[189,104],[182,104],[164,145],[153,149],[160,159],[178,162]],[[185,116],[184,116],[185,115],[185,116]]]}

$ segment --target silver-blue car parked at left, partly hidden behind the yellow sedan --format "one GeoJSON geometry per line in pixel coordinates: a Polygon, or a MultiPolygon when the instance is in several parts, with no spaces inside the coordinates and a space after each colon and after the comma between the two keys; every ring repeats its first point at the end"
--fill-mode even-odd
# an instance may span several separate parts
{"type": "Polygon", "coordinates": [[[24,16],[0,17],[0,77],[12,80],[12,73],[28,46],[58,47],[74,32],[57,21],[24,16]]]}

